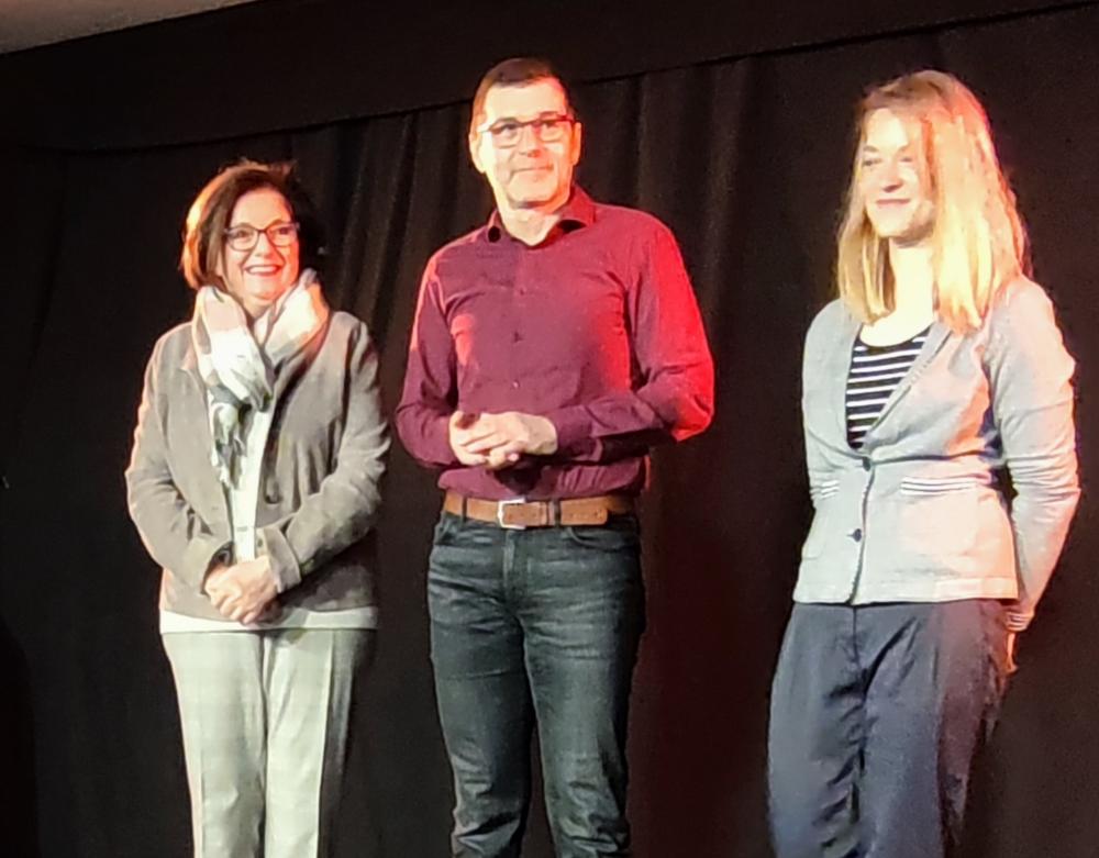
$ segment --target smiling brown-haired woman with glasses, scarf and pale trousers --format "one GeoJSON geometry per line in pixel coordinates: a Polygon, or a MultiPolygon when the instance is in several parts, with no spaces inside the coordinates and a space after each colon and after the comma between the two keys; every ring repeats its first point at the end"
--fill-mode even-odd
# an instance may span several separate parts
{"type": "Polygon", "coordinates": [[[289,167],[219,174],[187,218],[193,316],[145,376],[126,483],[164,567],[199,858],[330,854],[377,620],[378,364],[329,310],[320,252],[289,167]]]}

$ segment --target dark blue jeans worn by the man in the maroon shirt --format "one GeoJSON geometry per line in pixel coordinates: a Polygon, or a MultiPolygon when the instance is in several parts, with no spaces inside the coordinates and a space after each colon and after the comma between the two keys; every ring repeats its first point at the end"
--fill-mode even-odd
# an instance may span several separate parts
{"type": "Polygon", "coordinates": [[[443,513],[428,604],[457,858],[518,858],[535,726],[557,855],[630,854],[625,738],[644,627],[640,555],[633,516],[513,531],[443,513]]]}

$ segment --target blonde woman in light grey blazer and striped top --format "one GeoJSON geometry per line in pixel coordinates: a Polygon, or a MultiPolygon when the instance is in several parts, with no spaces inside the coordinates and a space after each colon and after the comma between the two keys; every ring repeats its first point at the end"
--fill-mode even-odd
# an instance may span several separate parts
{"type": "Polygon", "coordinates": [[[858,132],[840,298],[804,349],[771,828],[779,858],[941,858],[1079,495],[1074,363],[974,94],[907,75],[858,132]]]}

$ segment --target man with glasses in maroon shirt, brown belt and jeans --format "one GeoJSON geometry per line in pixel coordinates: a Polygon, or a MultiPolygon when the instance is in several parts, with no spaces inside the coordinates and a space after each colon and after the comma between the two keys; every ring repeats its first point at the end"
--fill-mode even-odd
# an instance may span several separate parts
{"type": "Polygon", "coordinates": [[[582,127],[544,62],[474,98],[489,222],[423,276],[397,427],[446,491],[428,579],[456,857],[519,856],[539,729],[559,856],[624,856],[648,448],[701,432],[713,366],[671,233],[573,183],[582,127]]]}

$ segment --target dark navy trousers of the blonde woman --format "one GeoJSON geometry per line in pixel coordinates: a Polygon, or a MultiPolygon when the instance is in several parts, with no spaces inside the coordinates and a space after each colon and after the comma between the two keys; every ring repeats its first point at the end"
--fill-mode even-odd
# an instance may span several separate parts
{"type": "Polygon", "coordinates": [[[798,604],[771,689],[778,858],[942,858],[1008,669],[995,600],[798,604]]]}

